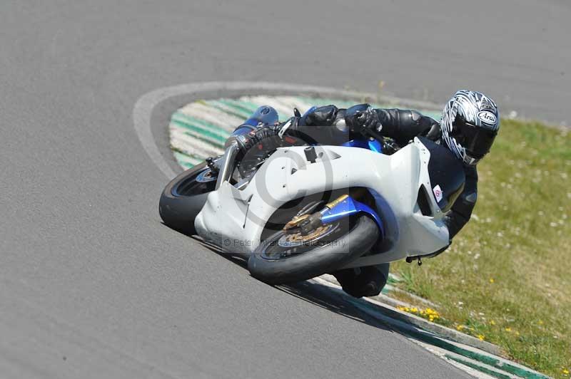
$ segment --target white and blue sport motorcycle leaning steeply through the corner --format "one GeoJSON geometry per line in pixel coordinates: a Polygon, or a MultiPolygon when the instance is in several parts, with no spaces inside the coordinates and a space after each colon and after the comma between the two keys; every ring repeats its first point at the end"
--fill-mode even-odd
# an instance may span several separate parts
{"type": "MultiPolygon", "coordinates": [[[[273,108],[258,108],[233,136],[277,120],[273,108]]],[[[268,284],[400,259],[420,264],[448,246],[444,217],[465,182],[450,150],[424,137],[396,150],[373,132],[343,145],[290,142],[239,157],[231,137],[223,155],[168,183],[163,222],[245,256],[268,284]]]]}

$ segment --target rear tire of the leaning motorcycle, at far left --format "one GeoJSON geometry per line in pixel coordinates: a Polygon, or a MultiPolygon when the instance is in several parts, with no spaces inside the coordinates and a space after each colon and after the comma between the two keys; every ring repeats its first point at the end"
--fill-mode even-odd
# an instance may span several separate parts
{"type": "Polygon", "coordinates": [[[185,234],[196,234],[194,219],[216,188],[216,177],[206,162],[181,173],[166,185],[158,202],[163,222],[185,234]]]}

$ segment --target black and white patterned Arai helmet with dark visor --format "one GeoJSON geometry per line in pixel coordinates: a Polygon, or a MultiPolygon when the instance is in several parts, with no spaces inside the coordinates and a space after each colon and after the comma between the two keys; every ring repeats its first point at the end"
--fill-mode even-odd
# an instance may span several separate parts
{"type": "Polygon", "coordinates": [[[494,100],[483,93],[459,90],[444,107],[440,130],[456,157],[475,165],[492,147],[500,130],[500,113],[494,100]]]}

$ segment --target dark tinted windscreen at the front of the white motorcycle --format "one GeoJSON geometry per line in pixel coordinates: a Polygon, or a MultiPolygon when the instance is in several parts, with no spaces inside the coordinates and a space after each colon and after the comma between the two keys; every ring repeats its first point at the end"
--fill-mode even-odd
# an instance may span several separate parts
{"type": "Polygon", "coordinates": [[[419,137],[419,139],[430,152],[428,174],[430,184],[433,186],[432,196],[436,199],[440,210],[448,212],[464,190],[466,181],[464,166],[446,147],[425,137],[419,137]]]}

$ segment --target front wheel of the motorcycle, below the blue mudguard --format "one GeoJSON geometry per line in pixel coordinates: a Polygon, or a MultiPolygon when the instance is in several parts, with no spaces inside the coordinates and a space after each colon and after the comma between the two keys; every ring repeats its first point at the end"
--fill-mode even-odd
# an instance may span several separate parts
{"type": "Polygon", "coordinates": [[[286,284],[332,272],[367,252],[379,237],[365,214],[324,224],[312,233],[272,234],[248,259],[250,274],[268,284],[286,284]]]}

